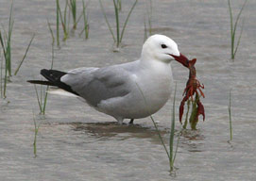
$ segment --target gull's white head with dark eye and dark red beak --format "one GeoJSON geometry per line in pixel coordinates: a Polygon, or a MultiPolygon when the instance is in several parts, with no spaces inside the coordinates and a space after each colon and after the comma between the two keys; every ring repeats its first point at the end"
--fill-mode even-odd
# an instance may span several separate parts
{"type": "Polygon", "coordinates": [[[153,35],[149,37],[142,50],[142,59],[155,59],[165,63],[176,59],[184,65],[187,58],[179,53],[178,45],[175,41],[164,35],[153,35]]]}

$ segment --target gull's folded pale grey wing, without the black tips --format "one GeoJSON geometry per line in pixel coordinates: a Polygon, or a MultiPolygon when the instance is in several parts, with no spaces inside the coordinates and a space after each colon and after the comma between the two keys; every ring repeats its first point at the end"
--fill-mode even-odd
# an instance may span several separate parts
{"type": "Polygon", "coordinates": [[[130,92],[130,72],[122,66],[79,68],[61,77],[90,105],[97,107],[102,100],[122,97],[130,92]]]}

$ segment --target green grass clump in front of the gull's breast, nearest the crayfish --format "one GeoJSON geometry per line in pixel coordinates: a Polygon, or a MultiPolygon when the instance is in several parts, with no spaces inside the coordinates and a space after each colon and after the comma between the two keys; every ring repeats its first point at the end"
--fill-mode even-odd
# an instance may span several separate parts
{"type": "MultiPolygon", "coordinates": [[[[145,105],[147,105],[146,100],[145,100],[145,95],[143,93],[143,90],[139,87],[139,85],[136,83],[138,89],[140,90],[140,92],[143,95],[144,101],[145,101],[145,105]]],[[[167,150],[167,147],[162,139],[160,130],[158,128],[157,123],[155,122],[154,118],[152,117],[152,115],[150,115],[150,119],[152,121],[152,123],[155,126],[155,129],[158,133],[159,139],[161,140],[162,143],[162,147],[166,153],[166,155],[168,156],[168,160],[169,160],[169,167],[170,167],[170,172],[172,173],[174,171],[174,162],[177,156],[177,152],[178,152],[178,146],[179,146],[179,138],[177,140],[177,146],[176,149],[174,151],[174,135],[175,135],[175,100],[176,100],[176,90],[177,90],[177,84],[175,86],[175,92],[174,92],[174,102],[173,102],[173,112],[172,112],[172,123],[171,123],[171,131],[170,131],[170,138],[169,138],[169,151],[167,150]]],[[[180,131],[181,133],[181,131],[180,131]]]]}

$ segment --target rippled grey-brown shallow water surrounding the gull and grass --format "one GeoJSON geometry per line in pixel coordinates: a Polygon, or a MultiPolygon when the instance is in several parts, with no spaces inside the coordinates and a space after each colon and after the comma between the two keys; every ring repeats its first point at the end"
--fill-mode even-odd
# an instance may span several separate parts
{"type": "MultiPolygon", "coordinates": [[[[123,1],[123,14],[129,1],[123,1]]],[[[242,1],[233,0],[237,13],[242,1]]],[[[80,4],[79,4],[80,5],[80,4]]],[[[111,1],[104,2],[114,21],[111,1]]],[[[54,68],[107,66],[139,58],[144,41],[148,2],[140,1],[130,17],[125,48],[113,53],[111,34],[97,1],[89,5],[90,39],[75,36],[55,50],[54,68]]],[[[64,2],[61,2],[64,6],[64,2]]],[[[10,2],[0,0],[0,22],[7,27],[10,2]]],[[[80,6],[79,10],[81,9],[80,6]]],[[[44,118],[35,90],[27,79],[41,78],[40,69],[51,64],[51,36],[46,19],[55,26],[55,2],[14,1],[12,40],[16,68],[32,34],[36,37],[19,74],[11,77],[8,98],[0,100],[0,180],[254,180],[256,177],[256,2],[249,1],[242,14],[245,28],[234,62],[230,62],[230,17],[223,0],[153,1],[153,32],[179,43],[179,50],[197,58],[198,78],[204,83],[206,121],[187,131],[179,143],[176,176],[168,172],[167,157],[148,118],[135,125],[117,125],[77,99],[50,95],[44,118]],[[233,140],[229,140],[228,102],[232,89],[233,140]],[[33,156],[34,125],[42,122],[38,156],[33,156]]],[[[238,30],[240,27],[238,27],[238,30]]],[[[181,99],[188,71],[172,63],[181,99]]],[[[178,110],[178,106],[176,110],[178,110]]],[[[172,101],[154,115],[166,143],[172,101]]],[[[178,116],[178,115],[177,115],[178,116]]],[[[179,122],[177,120],[177,130],[179,122]]]]}

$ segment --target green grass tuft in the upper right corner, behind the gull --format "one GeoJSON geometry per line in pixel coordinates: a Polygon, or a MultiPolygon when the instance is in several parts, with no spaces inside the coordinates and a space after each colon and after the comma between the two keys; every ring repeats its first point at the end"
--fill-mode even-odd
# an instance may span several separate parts
{"type": "Polygon", "coordinates": [[[238,50],[238,47],[239,47],[239,44],[240,44],[240,41],[241,41],[241,37],[242,37],[242,33],[243,33],[243,28],[244,28],[244,23],[242,24],[242,27],[241,27],[241,31],[240,31],[240,35],[238,37],[238,41],[236,42],[236,45],[235,45],[235,33],[236,33],[236,28],[237,28],[237,25],[238,25],[238,22],[239,22],[239,19],[240,19],[240,16],[242,14],[242,11],[243,9],[245,8],[247,4],[247,0],[245,0],[242,8],[240,9],[236,19],[235,19],[235,23],[233,25],[233,16],[232,16],[232,9],[231,9],[231,5],[230,5],[230,0],[228,0],[228,5],[229,5],[229,10],[230,10],[230,43],[231,43],[231,59],[234,59],[235,58],[235,54],[238,50]]]}

